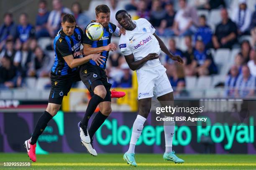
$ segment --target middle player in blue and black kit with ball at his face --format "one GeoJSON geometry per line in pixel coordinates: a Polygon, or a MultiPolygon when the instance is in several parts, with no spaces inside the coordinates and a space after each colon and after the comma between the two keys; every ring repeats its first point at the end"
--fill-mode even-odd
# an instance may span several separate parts
{"type": "MultiPolygon", "coordinates": [[[[104,28],[104,35],[100,40],[97,41],[90,40],[87,36],[84,36],[84,54],[89,55],[100,53],[106,58],[103,59],[105,62],[101,65],[97,65],[96,62],[90,60],[90,62],[81,65],[79,68],[81,80],[90,91],[92,98],[88,103],[83,120],[78,123],[78,128],[82,145],[87,148],[89,153],[97,156],[97,152],[92,145],[93,135],[112,111],[110,93],[111,84],[108,82],[108,77],[106,76],[105,72],[109,51],[114,51],[117,49],[116,45],[110,42],[111,36],[115,35],[119,37],[120,32],[123,31],[122,29],[120,31],[116,25],[110,23],[110,9],[107,5],[98,5],[95,8],[95,13],[97,20],[92,21],[92,23],[100,23],[104,28]],[[95,111],[97,105],[99,105],[100,111],[95,115],[90,129],[87,130],[88,121],[95,111]]],[[[84,35],[86,35],[85,32],[84,35]]]]}

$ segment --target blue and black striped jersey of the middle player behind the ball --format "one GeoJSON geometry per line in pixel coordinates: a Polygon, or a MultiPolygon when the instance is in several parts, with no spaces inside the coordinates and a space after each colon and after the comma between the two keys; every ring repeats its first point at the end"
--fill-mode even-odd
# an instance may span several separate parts
{"type": "MultiPolygon", "coordinates": [[[[96,21],[92,20],[91,23],[95,23],[95,22],[96,21]]],[[[86,30],[87,26],[85,27],[85,30],[86,30]]],[[[109,23],[108,27],[104,28],[104,35],[101,37],[100,40],[97,40],[97,41],[90,40],[87,37],[86,32],[84,30],[84,41],[83,41],[83,44],[90,45],[91,47],[95,47],[95,48],[107,46],[111,42],[111,37],[112,37],[113,32],[115,32],[115,29],[116,29],[116,25],[113,24],[113,23],[109,23]]],[[[98,66],[98,67],[100,67],[102,69],[105,69],[106,68],[106,63],[107,63],[107,60],[108,60],[108,53],[109,53],[109,51],[103,51],[103,52],[100,53],[100,55],[106,57],[106,58],[103,58],[103,60],[105,60],[104,64],[98,66],[95,63],[95,61],[93,61],[93,60],[90,60],[89,63],[92,64],[92,65],[96,65],[96,66],[98,66]]]]}

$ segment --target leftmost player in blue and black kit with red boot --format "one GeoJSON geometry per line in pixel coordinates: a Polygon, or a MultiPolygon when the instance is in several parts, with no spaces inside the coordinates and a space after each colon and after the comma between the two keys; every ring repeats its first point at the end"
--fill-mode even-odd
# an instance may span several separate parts
{"type": "Polygon", "coordinates": [[[44,132],[47,123],[55,116],[61,107],[64,95],[69,92],[72,83],[80,81],[78,66],[90,60],[97,63],[104,63],[103,56],[99,54],[83,54],[80,45],[83,42],[83,31],[76,26],[76,20],[73,15],[64,15],[61,22],[62,29],[54,38],[55,61],[51,70],[51,92],[49,95],[48,106],[43,115],[39,118],[33,135],[26,140],[24,145],[28,156],[33,162],[36,162],[36,141],[44,132]]]}

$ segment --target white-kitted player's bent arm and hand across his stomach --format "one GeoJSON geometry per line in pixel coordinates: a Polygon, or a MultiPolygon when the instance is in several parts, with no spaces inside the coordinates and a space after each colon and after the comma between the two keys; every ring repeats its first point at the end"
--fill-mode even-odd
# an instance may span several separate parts
{"type": "Polygon", "coordinates": [[[133,70],[133,71],[140,69],[148,60],[155,60],[157,58],[159,58],[158,54],[150,53],[143,59],[134,61],[133,54],[125,55],[125,60],[126,60],[127,64],[129,65],[129,67],[131,68],[131,70],[133,70]]]}

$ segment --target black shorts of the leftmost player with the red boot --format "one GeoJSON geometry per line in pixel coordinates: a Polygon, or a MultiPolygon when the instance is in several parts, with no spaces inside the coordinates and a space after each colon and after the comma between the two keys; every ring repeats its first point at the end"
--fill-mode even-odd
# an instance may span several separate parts
{"type": "Polygon", "coordinates": [[[51,72],[51,92],[48,102],[61,105],[64,95],[68,94],[73,82],[80,80],[78,71],[69,75],[56,75],[51,72]]]}

